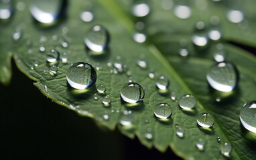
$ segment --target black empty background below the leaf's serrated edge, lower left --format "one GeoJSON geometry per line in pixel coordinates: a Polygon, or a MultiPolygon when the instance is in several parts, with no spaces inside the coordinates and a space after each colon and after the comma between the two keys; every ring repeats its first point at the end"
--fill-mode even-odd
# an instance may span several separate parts
{"type": "Polygon", "coordinates": [[[180,159],[118,129],[102,131],[92,119],[52,103],[12,67],[11,83],[0,85],[0,159],[180,159]]]}

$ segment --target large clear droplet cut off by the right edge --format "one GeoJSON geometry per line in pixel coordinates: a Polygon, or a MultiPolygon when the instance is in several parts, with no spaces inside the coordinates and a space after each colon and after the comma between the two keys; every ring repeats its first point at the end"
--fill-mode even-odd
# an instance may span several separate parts
{"type": "Polygon", "coordinates": [[[256,133],[256,101],[249,101],[243,105],[240,112],[240,121],[245,129],[256,133]]]}

